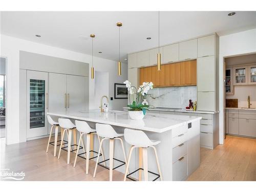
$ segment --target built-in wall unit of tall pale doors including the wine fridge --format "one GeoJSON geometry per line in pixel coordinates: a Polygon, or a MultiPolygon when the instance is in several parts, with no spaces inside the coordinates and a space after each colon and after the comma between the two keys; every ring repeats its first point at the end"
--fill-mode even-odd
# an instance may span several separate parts
{"type": "Polygon", "coordinates": [[[19,55],[20,142],[49,134],[47,112],[89,108],[88,63],[24,51],[19,55]]]}

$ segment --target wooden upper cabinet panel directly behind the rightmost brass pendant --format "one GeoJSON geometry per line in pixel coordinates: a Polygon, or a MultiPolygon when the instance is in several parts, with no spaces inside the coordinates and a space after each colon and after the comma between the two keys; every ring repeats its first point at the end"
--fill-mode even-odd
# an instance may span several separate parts
{"type": "Polygon", "coordinates": [[[165,67],[166,66],[161,66],[161,70],[157,71],[157,66],[151,67],[151,72],[152,72],[152,78],[151,81],[154,83],[154,87],[160,87],[160,86],[165,86],[165,67]]]}

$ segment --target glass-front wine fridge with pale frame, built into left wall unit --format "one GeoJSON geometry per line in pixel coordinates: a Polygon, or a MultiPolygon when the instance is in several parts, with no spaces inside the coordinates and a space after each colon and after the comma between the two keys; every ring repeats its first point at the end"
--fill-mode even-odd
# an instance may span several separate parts
{"type": "Polygon", "coordinates": [[[48,73],[27,71],[27,138],[48,134],[48,73]]]}

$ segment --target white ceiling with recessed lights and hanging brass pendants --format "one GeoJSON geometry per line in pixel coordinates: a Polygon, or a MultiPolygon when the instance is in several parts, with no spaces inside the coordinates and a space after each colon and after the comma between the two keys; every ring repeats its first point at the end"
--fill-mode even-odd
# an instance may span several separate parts
{"type": "MultiPolygon", "coordinates": [[[[221,36],[256,28],[255,11],[227,16],[229,12],[160,12],[160,45],[213,32],[221,36]]],[[[86,54],[91,54],[90,34],[94,33],[94,55],[118,60],[117,22],[123,23],[122,61],[127,53],[158,46],[157,11],[1,12],[1,33],[86,54]]]]}

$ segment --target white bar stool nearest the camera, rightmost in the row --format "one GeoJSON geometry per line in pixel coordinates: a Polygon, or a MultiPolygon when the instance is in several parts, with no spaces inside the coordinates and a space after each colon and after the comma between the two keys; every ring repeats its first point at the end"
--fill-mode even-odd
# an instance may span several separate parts
{"type": "Polygon", "coordinates": [[[127,175],[128,174],[128,169],[129,169],[129,164],[130,164],[130,161],[131,161],[132,152],[133,152],[134,148],[142,147],[142,156],[143,156],[143,169],[142,170],[144,170],[144,180],[147,181],[148,180],[148,173],[151,173],[151,174],[154,174],[154,175],[158,176],[153,181],[157,180],[159,177],[160,177],[160,180],[162,181],[163,178],[162,178],[162,173],[161,173],[159,160],[158,160],[158,156],[157,156],[157,150],[156,150],[156,147],[154,146],[154,145],[159,144],[161,141],[150,140],[143,131],[130,130],[130,129],[125,129],[124,130],[124,139],[127,143],[131,144],[132,146],[130,148],[129,157],[128,157],[128,160],[127,160],[123,180],[126,181],[126,177],[131,179],[131,180],[134,180],[134,179],[130,178],[129,176],[134,174],[138,170],[142,169],[142,168],[138,168],[134,172],[127,175]],[[148,171],[148,167],[147,167],[147,147],[152,147],[154,149],[159,175],[148,171]]]}

